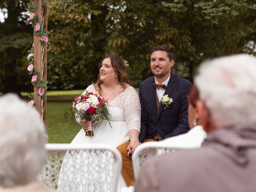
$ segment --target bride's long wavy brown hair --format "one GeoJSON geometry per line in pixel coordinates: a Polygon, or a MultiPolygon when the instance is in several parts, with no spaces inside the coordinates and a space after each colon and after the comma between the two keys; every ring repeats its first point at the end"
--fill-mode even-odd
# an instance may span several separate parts
{"type": "MultiPolygon", "coordinates": [[[[125,65],[124,65],[124,59],[121,58],[118,54],[110,54],[108,56],[106,56],[105,58],[103,58],[99,65],[98,68],[100,70],[101,68],[101,64],[103,62],[104,59],[109,58],[111,60],[111,65],[114,68],[114,71],[117,74],[117,79],[118,79],[118,84],[120,84],[121,86],[124,87],[125,90],[125,83],[131,85],[134,87],[134,84],[130,81],[130,79],[128,78],[128,74],[126,73],[126,71],[124,70],[125,65]]],[[[102,80],[100,80],[100,73],[98,74],[98,80],[94,83],[95,87],[98,88],[99,92],[101,91],[101,84],[103,83],[102,80]]]]}

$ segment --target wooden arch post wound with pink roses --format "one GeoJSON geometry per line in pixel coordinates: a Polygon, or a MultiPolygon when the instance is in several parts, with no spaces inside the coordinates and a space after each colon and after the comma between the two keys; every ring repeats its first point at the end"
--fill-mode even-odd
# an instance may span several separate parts
{"type": "MultiPolygon", "coordinates": [[[[47,30],[47,0],[34,0],[34,13],[38,15],[38,21],[44,26],[44,29],[47,30]]],[[[34,27],[35,31],[35,27],[34,27]]],[[[38,81],[47,80],[47,43],[43,45],[40,43],[40,36],[34,34],[34,70],[39,71],[38,81]]],[[[42,99],[38,95],[38,87],[34,85],[34,104],[36,109],[41,115],[42,121],[46,127],[46,101],[45,97],[42,99]]]]}

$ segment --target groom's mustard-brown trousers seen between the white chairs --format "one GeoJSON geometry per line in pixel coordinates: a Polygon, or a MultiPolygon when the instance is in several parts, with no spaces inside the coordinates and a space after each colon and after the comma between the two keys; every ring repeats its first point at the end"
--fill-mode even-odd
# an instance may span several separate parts
{"type": "MultiPolygon", "coordinates": [[[[144,142],[148,141],[156,141],[154,139],[145,139],[144,142]]],[[[132,168],[132,154],[127,155],[128,151],[126,150],[130,141],[127,141],[120,146],[117,147],[118,151],[122,156],[122,176],[124,177],[124,181],[126,182],[127,187],[133,185],[134,182],[134,174],[132,168]]]]}

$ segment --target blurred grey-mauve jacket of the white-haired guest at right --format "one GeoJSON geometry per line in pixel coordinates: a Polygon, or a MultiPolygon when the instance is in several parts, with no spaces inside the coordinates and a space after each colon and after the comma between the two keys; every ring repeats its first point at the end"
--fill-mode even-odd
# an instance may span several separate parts
{"type": "Polygon", "coordinates": [[[255,192],[256,128],[214,131],[202,148],[145,162],[135,192],[255,192]]]}

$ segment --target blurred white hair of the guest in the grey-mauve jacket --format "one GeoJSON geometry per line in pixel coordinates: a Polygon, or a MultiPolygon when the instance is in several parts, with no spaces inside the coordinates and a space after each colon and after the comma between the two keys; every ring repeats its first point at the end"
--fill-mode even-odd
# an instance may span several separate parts
{"type": "Polygon", "coordinates": [[[256,127],[256,58],[247,54],[204,62],[195,84],[217,127],[256,127]]]}

